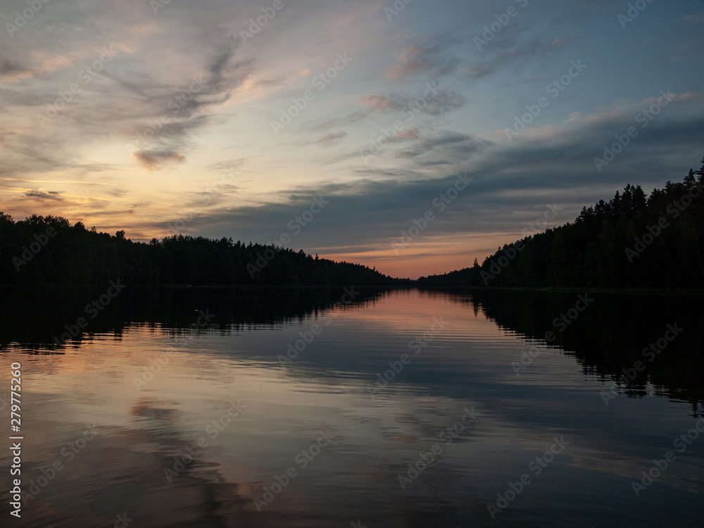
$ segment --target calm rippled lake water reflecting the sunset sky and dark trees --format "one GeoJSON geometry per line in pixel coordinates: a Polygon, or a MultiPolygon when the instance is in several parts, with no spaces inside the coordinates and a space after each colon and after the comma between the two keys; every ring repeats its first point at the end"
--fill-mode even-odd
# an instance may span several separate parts
{"type": "Polygon", "coordinates": [[[358,291],[4,291],[1,525],[703,525],[703,299],[358,291]]]}

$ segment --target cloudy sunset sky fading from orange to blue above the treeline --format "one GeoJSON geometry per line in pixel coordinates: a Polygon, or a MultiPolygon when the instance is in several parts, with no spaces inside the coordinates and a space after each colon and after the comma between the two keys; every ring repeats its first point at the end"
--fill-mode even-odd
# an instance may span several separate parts
{"type": "Polygon", "coordinates": [[[0,23],[15,220],[415,278],[704,157],[702,0],[2,0],[0,23]]]}

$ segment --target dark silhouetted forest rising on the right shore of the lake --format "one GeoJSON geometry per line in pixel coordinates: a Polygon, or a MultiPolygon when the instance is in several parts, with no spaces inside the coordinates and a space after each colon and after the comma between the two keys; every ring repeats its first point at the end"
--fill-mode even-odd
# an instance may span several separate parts
{"type": "Polygon", "coordinates": [[[704,288],[704,159],[646,196],[628,184],[567,224],[506,244],[421,287],[704,288]]]}

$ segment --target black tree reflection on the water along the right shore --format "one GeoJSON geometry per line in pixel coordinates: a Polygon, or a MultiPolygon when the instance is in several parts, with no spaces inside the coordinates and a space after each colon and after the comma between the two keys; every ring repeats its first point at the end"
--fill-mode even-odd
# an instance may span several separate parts
{"type": "MultiPolygon", "coordinates": [[[[565,313],[578,294],[522,291],[474,291],[467,302],[506,329],[541,339],[553,320],[565,313]]],[[[594,305],[555,332],[555,345],[574,356],[585,375],[617,382],[620,394],[640,398],[653,393],[686,400],[696,417],[704,401],[704,299],[700,296],[598,294],[594,305]],[[665,335],[676,339],[663,346],[665,335]],[[660,344],[658,344],[660,341],[660,344]],[[647,349],[644,351],[644,349],[647,349]],[[633,372],[634,363],[645,368],[633,372]],[[628,383],[625,383],[628,382],[628,383]],[[700,409],[700,407],[699,407],[700,409]]]]}

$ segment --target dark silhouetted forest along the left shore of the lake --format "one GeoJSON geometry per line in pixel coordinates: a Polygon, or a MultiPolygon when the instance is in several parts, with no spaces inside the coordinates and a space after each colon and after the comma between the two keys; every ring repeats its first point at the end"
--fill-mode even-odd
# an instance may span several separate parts
{"type": "Polygon", "coordinates": [[[402,286],[367,266],[279,246],[175,234],[148,243],[56,216],[0,212],[0,284],[96,286],[402,286]]]}

